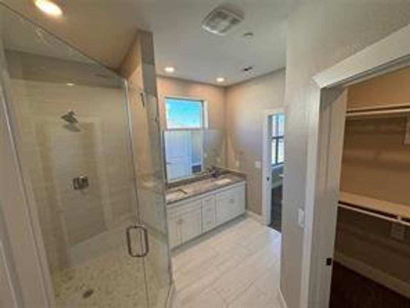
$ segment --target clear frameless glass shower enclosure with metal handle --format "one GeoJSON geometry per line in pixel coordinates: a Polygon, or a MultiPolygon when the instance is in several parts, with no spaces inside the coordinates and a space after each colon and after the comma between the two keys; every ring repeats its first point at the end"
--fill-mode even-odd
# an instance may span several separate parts
{"type": "Polygon", "coordinates": [[[0,14],[2,91],[49,307],[165,307],[156,98],[8,8],[0,14]]]}

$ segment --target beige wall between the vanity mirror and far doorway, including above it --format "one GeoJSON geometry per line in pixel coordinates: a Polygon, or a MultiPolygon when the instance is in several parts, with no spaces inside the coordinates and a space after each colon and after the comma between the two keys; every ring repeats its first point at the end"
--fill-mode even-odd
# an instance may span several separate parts
{"type": "Polygon", "coordinates": [[[262,114],[284,105],[285,70],[227,88],[228,167],[248,179],[248,209],[261,214],[262,114]],[[236,161],[239,162],[237,166],[236,161]]]}

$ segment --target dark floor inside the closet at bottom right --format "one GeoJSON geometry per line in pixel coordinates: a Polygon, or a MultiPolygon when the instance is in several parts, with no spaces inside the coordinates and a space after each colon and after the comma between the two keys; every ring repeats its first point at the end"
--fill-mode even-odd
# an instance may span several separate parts
{"type": "Polygon", "coordinates": [[[410,299],[335,262],[329,306],[330,308],[410,308],[410,299]]]}

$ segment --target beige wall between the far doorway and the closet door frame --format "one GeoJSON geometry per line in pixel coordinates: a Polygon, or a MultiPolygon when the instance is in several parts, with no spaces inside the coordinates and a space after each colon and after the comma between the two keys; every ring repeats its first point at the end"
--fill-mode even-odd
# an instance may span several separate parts
{"type": "Polygon", "coordinates": [[[299,307],[304,208],[308,166],[312,76],[408,24],[408,1],[309,0],[289,20],[286,59],[286,161],[282,211],[281,291],[289,308],[299,307]]]}

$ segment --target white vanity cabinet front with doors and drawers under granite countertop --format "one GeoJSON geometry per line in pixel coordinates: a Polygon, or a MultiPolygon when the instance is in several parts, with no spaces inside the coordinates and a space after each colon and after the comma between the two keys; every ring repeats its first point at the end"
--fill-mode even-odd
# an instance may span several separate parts
{"type": "Polygon", "coordinates": [[[168,205],[171,248],[245,213],[245,182],[168,205]]]}

